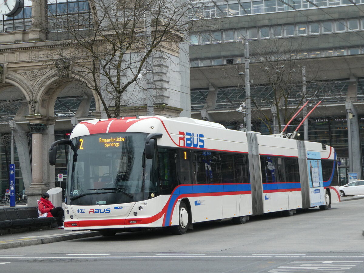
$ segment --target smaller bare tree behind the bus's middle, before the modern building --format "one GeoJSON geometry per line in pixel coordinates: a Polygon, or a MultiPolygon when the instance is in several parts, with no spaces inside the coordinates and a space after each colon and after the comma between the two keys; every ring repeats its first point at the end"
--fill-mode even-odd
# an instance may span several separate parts
{"type": "Polygon", "coordinates": [[[281,132],[307,99],[322,95],[319,84],[310,84],[317,80],[319,68],[306,59],[303,43],[270,39],[252,44],[252,103],[257,110],[253,118],[261,120],[271,134],[281,132]],[[306,83],[302,82],[302,67],[308,71],[306,83]],[[305,92],[306,84],[310,88],[305,92]]]}

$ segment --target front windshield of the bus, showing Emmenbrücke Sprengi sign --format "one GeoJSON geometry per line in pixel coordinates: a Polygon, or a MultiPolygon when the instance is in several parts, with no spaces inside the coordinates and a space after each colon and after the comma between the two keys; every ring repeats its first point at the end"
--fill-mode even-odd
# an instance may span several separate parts
{"type": "Polygon", "coordinates": [[[108,205],[156,196],[146,134],[108,133],[72,139],[66,189],[68,205],[108,205]]]}

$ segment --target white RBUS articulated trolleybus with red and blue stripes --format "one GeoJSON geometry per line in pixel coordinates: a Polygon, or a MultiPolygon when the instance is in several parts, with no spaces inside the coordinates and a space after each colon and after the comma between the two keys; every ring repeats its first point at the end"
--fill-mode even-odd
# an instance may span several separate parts
{"type": "Polygon", "coordinates": [[[320,206],[340,201],[336,153],[327,145],[226,129],[191,118],[88,120],[70,139],[66,230],[116,232],[320,206]]]}

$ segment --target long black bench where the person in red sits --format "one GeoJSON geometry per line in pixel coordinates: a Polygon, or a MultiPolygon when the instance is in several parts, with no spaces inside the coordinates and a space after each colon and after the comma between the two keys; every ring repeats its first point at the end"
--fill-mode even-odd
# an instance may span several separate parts
{"type": "Polygon", "coordinates": [[[37,207],[0,209],[0,234],[58,227],[55,217],[38,217],[37,207]]]}

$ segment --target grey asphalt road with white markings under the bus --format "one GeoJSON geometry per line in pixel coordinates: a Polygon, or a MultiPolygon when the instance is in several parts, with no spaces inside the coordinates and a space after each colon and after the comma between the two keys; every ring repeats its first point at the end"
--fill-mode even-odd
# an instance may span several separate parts
{"type": "Polygon", "coordinates": [[[364,199],[268,214],[0,250],[0,272],[364,272],[364,199]]]}

